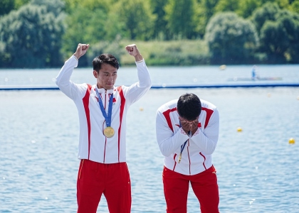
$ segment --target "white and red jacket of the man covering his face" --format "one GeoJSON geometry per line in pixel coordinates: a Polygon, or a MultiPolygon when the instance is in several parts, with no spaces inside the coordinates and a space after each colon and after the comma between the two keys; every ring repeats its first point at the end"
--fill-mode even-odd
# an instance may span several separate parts
{"type": "Polygon", "coordinates": [[[211,154],[219,136],[219,113],[216,107],[201,100],[199,129],[189,137],[179,125],[177,100],[159,107],[156,117],[157,142],[165,156],[164,166],[183,175],[196,175],[211,167],[211,154]],[[182,160],[179,161],[181,145],[187,141],[182,160]]]}

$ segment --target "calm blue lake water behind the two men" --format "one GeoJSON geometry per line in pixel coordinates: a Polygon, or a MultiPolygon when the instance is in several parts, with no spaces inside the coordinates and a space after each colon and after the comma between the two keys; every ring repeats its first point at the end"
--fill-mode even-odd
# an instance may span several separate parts
{"type": "MultiPolygon", "coordinates": [[[[54,84],[58,70],[0,70],[1,85],[54,84]]],[[[153,84],[223,83],[250,77],[251,66],[150,67],[153,84]]],[[[260,66],[263,77],[299,82],[299,66],[260,66]]],[[[121,68],[118,84],[137,79],[121,68]]],[[[94,82],[78,69],[75,82],[94,82]]],[[[157,108],[185,92],[220,113],[214,152],[221,212],[298,212],[299,87],[150,89],[127,114],[127,164],[132,212],[165,212],[163,156],[155,138],[157,108]],[[143,109],[143,110],[141,110],[143,109]],[[243,131],[237,132],[240,126],[243,131]],[[296,143],[290,145],[289,138],[296,143]]],[[[75,104],[60,91],[0,91],[0,212],[76,212],[79,160],[75,104]]],[[[107,212],[105,197],[98,212],[107,212]]],[[[188,212],[199,212],[190,188],[188,212]]]]}

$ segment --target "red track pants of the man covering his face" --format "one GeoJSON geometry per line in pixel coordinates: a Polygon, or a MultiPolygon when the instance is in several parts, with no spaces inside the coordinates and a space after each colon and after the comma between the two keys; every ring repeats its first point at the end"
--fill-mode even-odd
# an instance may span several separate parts
{"type": "Polygon", "coordinates": [[[182,175],[164,167],[163,185],[167,213],[187,212],[189,182],[199,200],[201,213],[219,213],[219,190],[213,165],[196,175],[182,175]]]}

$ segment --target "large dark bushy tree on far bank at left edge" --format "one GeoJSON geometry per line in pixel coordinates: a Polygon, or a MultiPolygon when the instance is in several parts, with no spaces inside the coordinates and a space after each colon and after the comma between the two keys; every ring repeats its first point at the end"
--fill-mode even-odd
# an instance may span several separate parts
{"type": "Polygon", "coordinates": [[[63,32],[63,16],[47,13],[46,6],[28,4],[11,11],[0,21],[1,65],[60,66],[63,32]]]}

